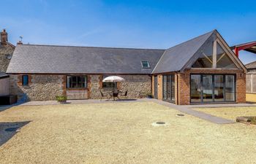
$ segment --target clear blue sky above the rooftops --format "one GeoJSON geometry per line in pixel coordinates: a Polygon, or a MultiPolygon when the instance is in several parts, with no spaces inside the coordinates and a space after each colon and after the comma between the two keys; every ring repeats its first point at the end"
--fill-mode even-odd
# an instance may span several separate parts
{"type": "MultiPolygon", "coordinates": [[[[9,42],[166,49],[217,29],[230,46],[256,40],[255,1],[1,0],[9,42]]],[[[244,64],[256,60],[240,52],[244,64]]]]}

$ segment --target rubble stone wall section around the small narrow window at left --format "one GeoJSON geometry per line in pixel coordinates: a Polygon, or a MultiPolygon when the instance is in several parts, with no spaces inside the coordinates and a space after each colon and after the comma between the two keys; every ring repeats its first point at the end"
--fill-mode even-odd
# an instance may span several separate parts
{"type": "Polygon", "coordinates": [[[55,100],[64,94],[64,75],[29,75],[29,85],[22,85],[22,74],[10,75],[10,93],[23,101],[55,100]]]}

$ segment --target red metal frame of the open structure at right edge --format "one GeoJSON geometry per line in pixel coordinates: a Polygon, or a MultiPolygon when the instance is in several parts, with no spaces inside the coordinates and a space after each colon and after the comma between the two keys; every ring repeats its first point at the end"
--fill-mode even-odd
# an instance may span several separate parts
{"type": "Polygon", "coordinates": [[[230,48],[235,51],[235,54],[237,57],[239,57],[240,50],[245,50],[245,51],[252,52],[252,53],[256,54],[256,41],[248,42],[248,43],[244,43],[244,44],[238,44],[238,45],[235,45],[230,48]]]}

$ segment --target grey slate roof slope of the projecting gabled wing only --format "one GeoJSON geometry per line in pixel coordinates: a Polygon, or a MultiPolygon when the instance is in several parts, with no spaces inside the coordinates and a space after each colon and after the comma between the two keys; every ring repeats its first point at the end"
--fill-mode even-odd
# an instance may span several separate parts
{"type": "Polygon", "coordinates": [[[213,33],[208,32],[165,50],[153,74],[180,71],[213,33]]]}

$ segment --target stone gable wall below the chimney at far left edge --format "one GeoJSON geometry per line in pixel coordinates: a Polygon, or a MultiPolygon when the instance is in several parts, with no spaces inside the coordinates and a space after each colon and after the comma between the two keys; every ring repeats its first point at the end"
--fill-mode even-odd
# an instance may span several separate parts
{"type": "Polygon", "coordinates": [[[6,45],[0,44],[0,71],[7,71],[7,67],[10,63],[10,57],[14,50],[15,47],[9,43],[6,45]],[[9,59],[7,57],[9,57],[9,59]]]}

